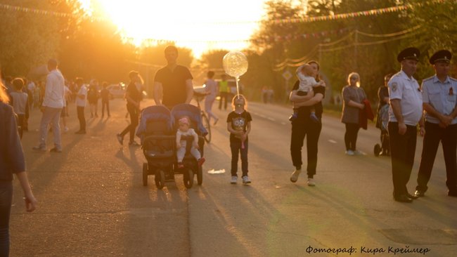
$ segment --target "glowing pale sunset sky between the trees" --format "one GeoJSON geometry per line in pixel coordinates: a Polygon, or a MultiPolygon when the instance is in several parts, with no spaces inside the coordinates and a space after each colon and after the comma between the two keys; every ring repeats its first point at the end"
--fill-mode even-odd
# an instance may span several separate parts
{"type": "MultiPolygon", "coordinates": [[[[103,13],[136,45],[142,39],[176,41],[199,57],[208,49],[240,50],[262,19],[264,0],[79,0],[103,13]],[[98,7],[95,7],[98,8],[98,7]]],[[[150,41],[155,44],[155,41],[150,41]]]]}

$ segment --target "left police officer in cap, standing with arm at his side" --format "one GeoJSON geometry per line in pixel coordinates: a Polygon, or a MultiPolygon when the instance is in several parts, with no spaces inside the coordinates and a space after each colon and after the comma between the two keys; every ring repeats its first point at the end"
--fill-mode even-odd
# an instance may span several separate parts
{"type": "Polygon", "coordinates": [[[422,93],[414,79],[420,52],[418,48],[406,48],[399,53],[397,60],[401,71],[390,79],[389,86],[389,136],[392,156],[392,180],[394,199],[397,202],[413,202],[417,197],[406,189],[416,152],[417,128],[420,135],[425,133],[423,124],[422,93]]]}

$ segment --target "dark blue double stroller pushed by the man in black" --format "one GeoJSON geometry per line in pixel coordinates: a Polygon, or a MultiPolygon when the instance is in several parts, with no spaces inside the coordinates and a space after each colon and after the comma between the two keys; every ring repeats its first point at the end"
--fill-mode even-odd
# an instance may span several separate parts
{"type": "Polygon", "coordinates": [[[165,182],[174,181],[175,174],[183,174],[186,188],[193,186],[194,174],[197,174],[198,185],[202,185],[202,166],[190,154],[193,138],[187,140],[186,154],[183,159],[184,168],[179,169],[176,159],[176,129],[178,119],[187,116],[191,119],[191,128],[198,133],[198,145],[203,156],[205,128],[202,126],[200,110],[188,104],[173,107],[170,112],[164,106],[150,106],[141,112],[140,124],[136,136],[141,139],[141,148],[145,163],[143,163],[143,185],[148,185],[148,176],[153,175],[158,189],[165,186],[165,182]]]}

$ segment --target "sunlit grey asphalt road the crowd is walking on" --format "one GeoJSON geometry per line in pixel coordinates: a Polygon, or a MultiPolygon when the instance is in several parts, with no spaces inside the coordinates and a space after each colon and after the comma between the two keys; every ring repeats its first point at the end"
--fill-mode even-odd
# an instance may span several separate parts
{"type": "MultiPolygon", "coordinates": [[[[394,202],[390,159],[372,154],[379,130],[360,131],[357,145],[366,155],[349,157],[344,124],[324,114],[316,187],[308,187],[303,175],[290,183],[291,108],[250,103],[252,184],[231,185],[228,110],[215,106],[221,120],[205,145],[203,184],[187,190],[179,175],[176,183],[157,190],[153,176],[147,187],[141,183],[146,161],[141,149],[127,146],[127,138],[121,147],[115,138],[129,123],[123,100],[112,100],[111,107],[109,119],[88,119],[88,133],[75,135],[78,123],[70,105],[62,153],[32,151],[41,118],[32,112],[22,145],[39,209],[25,213],[15,181],[11,256],[454,256],[457,251],[457,199],[446,196],[441,149],[426,197],[394,202]],[[212,169],[225,173],[207,173],[212,169]]],[[[49,148],[51,142],[50,135],[49,148]]],[[[421,150],[418,138],[410,192],[421,150]]]]}

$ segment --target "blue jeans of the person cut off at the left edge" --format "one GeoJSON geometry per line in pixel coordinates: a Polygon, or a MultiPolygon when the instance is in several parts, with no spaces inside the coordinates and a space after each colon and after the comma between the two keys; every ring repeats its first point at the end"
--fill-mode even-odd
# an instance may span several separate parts
{"type": "Polygon", "coordinates": [[[10,251],[10,213],[13,201],[13,182],[0,180],[0,257],[7,257],[10,251]]]}

